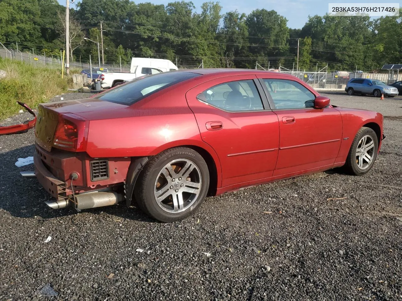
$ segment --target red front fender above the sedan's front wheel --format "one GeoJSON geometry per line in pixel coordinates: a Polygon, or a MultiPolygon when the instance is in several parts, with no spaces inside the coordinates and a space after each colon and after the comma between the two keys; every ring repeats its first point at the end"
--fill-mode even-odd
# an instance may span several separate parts
{"type": "MultiPolygon", "coordinates": [[[[335,109],[338,110],[342,116],[342,141],[340,144],[338,157],[336,158],[335,163],[342,163],[346,161],[349,150],[353,143],[353,139],[355,138],[357,132],[365,124],[368,124],[370,122],[378,124],[381,129],[380,137],[382,136],[383,116],[380,113],[366,110],[340,108],[340,107],[336,107],[335,109]]],[[[378,145],[380,148],[381,138],[379,140],[378,145]]]]}

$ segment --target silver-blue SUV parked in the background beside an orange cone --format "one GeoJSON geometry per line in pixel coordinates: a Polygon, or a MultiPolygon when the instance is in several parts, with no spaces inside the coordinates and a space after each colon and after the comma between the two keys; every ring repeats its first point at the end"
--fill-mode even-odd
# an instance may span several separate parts
{"type": "Polygon", "coordinates": [[[350,81],[348,81],[345,87],[345,91],[349,95],[359,93],[361,95],[371,94],[374,95],[375,97],[380,97],[381,94],[390,97],[398,95],[398,89],[386,85],[385,83],[377,79],[353,78],[350,81]]]}

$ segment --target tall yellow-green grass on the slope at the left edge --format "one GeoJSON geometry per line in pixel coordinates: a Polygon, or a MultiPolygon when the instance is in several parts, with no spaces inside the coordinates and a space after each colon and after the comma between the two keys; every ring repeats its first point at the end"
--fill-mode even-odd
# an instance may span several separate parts
{"type": "MultiPolygon", "coordinates": [[[[0,69],[7,77],[0,79],[0,120],[18,113],[21,107],[16,100],[36,108],[55,95],[66,93],[72,86],[72,77],[62,79],[61,70],[34,67],[29,64],[0,57],[0,69]]],[[[72,70],[71,73],[78,73],[72,70]]]]}

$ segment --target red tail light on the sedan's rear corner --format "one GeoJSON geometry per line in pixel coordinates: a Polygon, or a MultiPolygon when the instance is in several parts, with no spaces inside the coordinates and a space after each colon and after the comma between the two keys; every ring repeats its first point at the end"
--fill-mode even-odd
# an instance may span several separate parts
{"type": "Polygon", "coordinates": [[[89,122],[74,114],[59,115],[53,147],[74,152],[86,149],[89,122]]]}

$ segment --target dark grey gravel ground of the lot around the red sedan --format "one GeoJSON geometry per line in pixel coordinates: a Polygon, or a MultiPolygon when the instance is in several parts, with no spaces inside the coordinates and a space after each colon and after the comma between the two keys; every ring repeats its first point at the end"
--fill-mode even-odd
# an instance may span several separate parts
{"type": "Polygon", "coordinates": [[[386,116],[372,171],[226,193],[173,224],[124,205],[49,209],[18,173],[33,166],[14,165],[33,130],[0,136],[0,300],[399,300],[402,97],[328,95],[386,116]],[[38,295],[47,283],[57,297],[38,295]]]}

